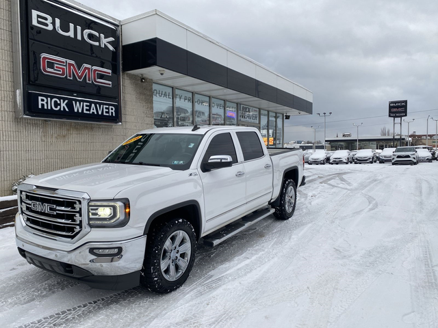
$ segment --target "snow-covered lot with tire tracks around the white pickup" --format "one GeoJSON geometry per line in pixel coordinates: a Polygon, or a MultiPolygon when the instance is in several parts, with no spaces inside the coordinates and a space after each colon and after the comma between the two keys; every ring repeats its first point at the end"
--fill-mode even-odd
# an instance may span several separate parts
{"type": "Polygon", "coordinates": [[[438,327],[438,162],[306,165],[292,219],[199,245],[182,288],[91,289],[0,230],[1,327],[438,327]]]}

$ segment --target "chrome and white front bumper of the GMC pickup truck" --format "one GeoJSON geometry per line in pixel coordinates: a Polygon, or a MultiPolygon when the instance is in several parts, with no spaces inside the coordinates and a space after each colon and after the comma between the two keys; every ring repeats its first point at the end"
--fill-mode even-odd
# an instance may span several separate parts
{"type": "Polygon", "coordinates": [[[38,245],[20,234],[20,217],[16,217],[16,245],[27,262],[40,269],[84,282],[92,288],[120,290],[138,286],[146,249],[146,236],[125,241],[88,242],[75,249],[58,249],[38,245]],[[90,253],[90,249],[119,249],[114,256],[90,253]]]}

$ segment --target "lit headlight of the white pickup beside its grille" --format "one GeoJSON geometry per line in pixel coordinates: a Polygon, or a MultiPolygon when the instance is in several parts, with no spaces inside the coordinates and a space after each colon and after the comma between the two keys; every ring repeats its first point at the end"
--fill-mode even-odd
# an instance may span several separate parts
{"type": "Polygon", "coordinates": [[[129,221],[129,200],[88,203],[88,223],[92,228],[120,228],[129,221]]]}

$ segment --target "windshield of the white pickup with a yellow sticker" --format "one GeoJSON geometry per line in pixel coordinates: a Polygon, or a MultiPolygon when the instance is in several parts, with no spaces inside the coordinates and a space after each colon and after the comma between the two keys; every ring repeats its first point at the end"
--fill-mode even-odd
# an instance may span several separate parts
{"type": "Polygon", "coordinates": [[[188,169],[203,135],[150,133],[135,135],[112,152],[104,163],[188,169]]]}

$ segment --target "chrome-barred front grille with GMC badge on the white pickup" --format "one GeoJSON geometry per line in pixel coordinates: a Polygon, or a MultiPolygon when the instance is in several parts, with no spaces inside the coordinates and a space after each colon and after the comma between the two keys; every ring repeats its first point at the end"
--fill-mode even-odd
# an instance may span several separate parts
{"type": "Polygon", "coordinates": [[[82,230],[80,199],[20,192],[21,215],[32,232],[73,239],[82,230]]]}

